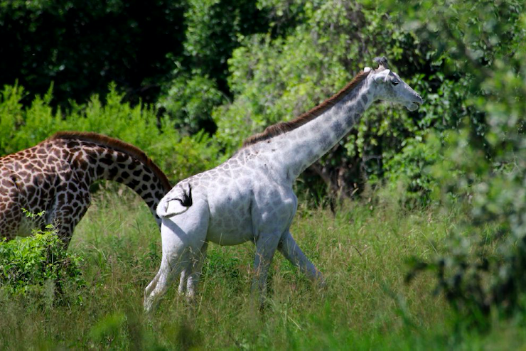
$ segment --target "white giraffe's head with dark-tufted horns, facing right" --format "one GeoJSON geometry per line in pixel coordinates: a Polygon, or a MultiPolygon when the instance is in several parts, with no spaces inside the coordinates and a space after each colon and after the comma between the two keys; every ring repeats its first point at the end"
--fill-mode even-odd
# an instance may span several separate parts
{"type": "Polygon", "coordinates": [[[375,86],[375,99],[403,104],[409,111],[417,110],[424,102],[422,97],[390,70],[387,58],[375,58],[375,62],[376,70],[364,68],[364,72],[370,72],[369,78],[375,86]]]}

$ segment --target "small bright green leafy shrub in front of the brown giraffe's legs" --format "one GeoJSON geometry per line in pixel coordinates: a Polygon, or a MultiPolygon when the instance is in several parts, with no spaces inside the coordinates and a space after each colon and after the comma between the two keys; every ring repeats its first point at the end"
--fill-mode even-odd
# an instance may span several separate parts
{"type": "Polygon", "coordinates": [[[31,237],[0,242],[0,290],[15,295],[53,296],[85,286],[82,257],[65,251],[52,225],[31,237]]]}

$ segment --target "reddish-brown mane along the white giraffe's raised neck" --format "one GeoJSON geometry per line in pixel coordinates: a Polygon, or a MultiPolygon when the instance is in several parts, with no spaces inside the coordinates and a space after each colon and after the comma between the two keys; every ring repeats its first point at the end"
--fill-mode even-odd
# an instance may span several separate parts
{"type": "Polygon", "coordinates": [[[326,112],[328,109],[333,107],[337,102],[339,102],[345,95],[348,95],[350,91],[352,91],[355,87],[357,87],[360,82],[362,82],[367,75],[369,75],[370,71],[364,72],[360,71],[358,72],[358,75],[355,75],[353,80],[351,80],[348,85],[345,85],[345,87],[337,92],[332,97],[329,97],[321,104],[318,104],[318,106],[313,107],[312,109],[308,110],[304,114],[300,114],[295,119],[292,119],[291,121],[282,121],[277,124],[273,124],[272,126],[267,126],[267,128],[262,131],[262,133],[254,134],[252,136],[249,136],[245,141],[243,141],[242,148],[256,144],[259,141],[264,141],[268,139],[272,139],[274,136],[278,136],[280,134],[285,134],[287,131],[294,130],[296,128],[299,128],[300,126],[303,126],[304,124],[308,123],[309,121],[312,121],[316,117],[319,117],[323,112],[326,112]]]}

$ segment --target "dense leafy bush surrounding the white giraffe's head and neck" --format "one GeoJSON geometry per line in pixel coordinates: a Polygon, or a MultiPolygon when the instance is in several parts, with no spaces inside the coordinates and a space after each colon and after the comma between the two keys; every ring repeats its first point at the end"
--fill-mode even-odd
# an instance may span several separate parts
{"type": "MultiPolygon", "coordinates": [[[[429,126],[444,129],[455,122],[441,114],[451,102],[439,95],[456,94],[456,77],[441,73],[443,60],[434,58],[431,47],[400,26],[397,18],[358,3],[294,4],[301,9],[296,16],[303,18],[294,30],[277,38],[270,33],[247,37],[232,55],[229,84],[234,100],[215,109],[216,135],[232,152],[250,134],[292,119],[330,97],[365,65],[372,65],[372,58],[385,54],[393,70],[422,93],[426,104],[413,113],[399,106],[375,105],[304,177],[308,188],[319,190],[323,180],[333,193],[349,196],[370,178],[399,172],[390,160],[401,151],[412,152],[404,151],[404,146],[421,142],[429,126]]],[[[410,190],[421,189],[412,183],[410,190]]]]}

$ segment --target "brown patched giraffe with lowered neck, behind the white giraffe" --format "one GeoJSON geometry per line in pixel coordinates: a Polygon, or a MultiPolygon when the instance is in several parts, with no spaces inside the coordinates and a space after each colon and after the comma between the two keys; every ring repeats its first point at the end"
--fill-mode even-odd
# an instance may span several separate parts
{"type": "Polygon", "coordinates": [[[155,209],[171,185],[143,151],[101,134],[63,131],[0,158],[0,238],[28,235],[33,225],[53,223],[68,247],[90,206],[90,185],[102,179],[132,188],[161,225],[155,209]],[[45,215],[34,223],[22,209],[45,215]]]}

